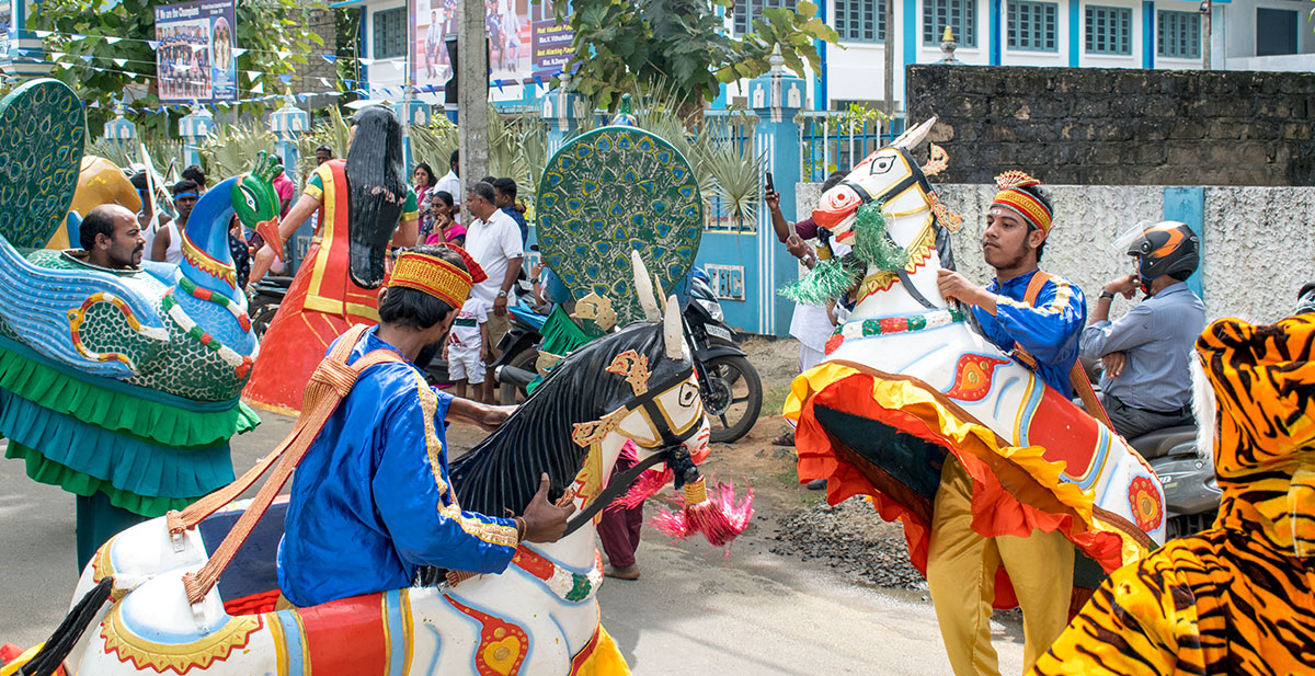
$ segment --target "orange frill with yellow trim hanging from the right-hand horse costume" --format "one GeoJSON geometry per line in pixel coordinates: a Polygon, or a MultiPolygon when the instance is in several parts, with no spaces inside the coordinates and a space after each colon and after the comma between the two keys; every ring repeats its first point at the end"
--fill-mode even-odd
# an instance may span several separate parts
{"type": "MultiPolygon", "coordinates": [[[[942,393],[915,379],[881,374],[859,364],[825,363],[794,379],[784,414],[797,421],[796,448],[801,481],[827,480],[827,502],[871,496],[886,521],[903,523],[909,558],[927,572],[931,513],[939,468],[913,452],[896,467],[868,472],[859,454],[832,443],[815,417],[825,406],[855,423],[877,421],[890,427],[889,438],[873,439],[890,447],[934,443],[952,452],[973,479],[973,530],[984,537],[1020,535],[1034,530],[1060,531],[1105,573],[1136,560],[1144,550],[1126,533],[1105,522],[1094,509],[1094,496],[1063,481],[1063,466],[1045,460],[1039,446],[1010,446],[976,422],[942,393]],[[873,479],[876,477],[876,479],[873,479]],[[880,485],[878,485],[880,484],[880,485]],[[932,497],[928,497],[927,493],[932,497]]],[[[871,433],[868,433],[871,437],[871,433]]],[[[994,606],[1016,608],[1018,600],[1003,567],[995,573],[994,606]]],[[[1085,601],[1098,579],[1074,579],[1074,604],[1085,601]]],[[[1076,608],[1076,606],[1074,606],[1076,608]]]]}

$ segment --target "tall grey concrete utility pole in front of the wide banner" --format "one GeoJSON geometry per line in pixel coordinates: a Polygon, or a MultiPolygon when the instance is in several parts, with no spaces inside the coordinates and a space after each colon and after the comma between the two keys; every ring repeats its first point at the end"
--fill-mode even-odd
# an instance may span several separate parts
{"type": "MultiPolygon", "coordinates": [[[[463,205],[466,188],[485,176],[489,170],[489,53],[484,28],[484,0],[459,0],[456,4],[456,104],[460,124],[456,128],[458,147],[462,151],[462,195],[454,196],[463,205]]],[[[462,222],[473,222],[467,214],[462,222]]]]}

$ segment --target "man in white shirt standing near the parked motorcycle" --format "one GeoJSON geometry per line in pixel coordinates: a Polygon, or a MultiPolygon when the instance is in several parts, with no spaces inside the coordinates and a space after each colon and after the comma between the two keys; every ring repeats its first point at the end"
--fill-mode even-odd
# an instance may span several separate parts
{"type": "MultiPolygon", "coordinates": [[[[466,229],[466,250],[488,275],[487,280],[471,288],[471,296],[481,299],[493,308],[493,314],[488,320],[488,337],[494,356],[498,352],[498,342],[512,326],[506,306],[515,302],[513,288],[515,278],[521,274],[521,259],[525,256],[521,230],[510,216],[493,204],[496,199],[493,185],[484,181],[472,185],[466,196],[467,206],[476,218],[466,229]]],[[[490,364],[483,383],[485,395],[483,401],[492,401],[493,380],[490,364]]]]}

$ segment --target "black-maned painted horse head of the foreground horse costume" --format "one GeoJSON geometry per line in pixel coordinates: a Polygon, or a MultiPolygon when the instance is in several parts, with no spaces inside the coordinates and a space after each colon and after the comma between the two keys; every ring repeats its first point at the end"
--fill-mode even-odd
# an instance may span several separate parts
{"type": "Polygon", "coordinates": [[[551,480],[571,485],[589,447],[611,433],[646,450],[679,445],[704,420],[679,308],[663,322],[636,322],[571,352],[501,427],[451,466],[463,509],[521,513],[551,480]]]}

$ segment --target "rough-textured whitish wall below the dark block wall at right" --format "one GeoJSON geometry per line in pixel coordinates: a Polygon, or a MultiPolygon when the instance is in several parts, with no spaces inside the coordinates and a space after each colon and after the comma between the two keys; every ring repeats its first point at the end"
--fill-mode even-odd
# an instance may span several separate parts
{"type": "MultiPolygon", "coordinates": [[[[1161,185],[1052,185],[1056,226],[1041,268],[1072,279],[1086,295],[1088,309],[1110,279],[1130,272],[1130,259],[1114,241],[1137,221],[1160,221],[1161,185]]],[[[821,184],[800,184],[797,204],[817,204],[821,184]]],[[[938,184],[947,206],[964,217],[953,235],[959,270],[986,284],[992,270],[981,256],[986,208],[993,184],[938,184]]],[[[1315,188],[1206,188],[1206,314],[1269,324],[1289,314],[1297,289],[1315,280],[1315,188]]],[[[789,214],[786,214],[789,216],[789,214]]],[[[798,213],[807,217],[807,213],[798,213]]],[[[1111,317],[1131,306],[1115,299],[1111,317]]]]}

